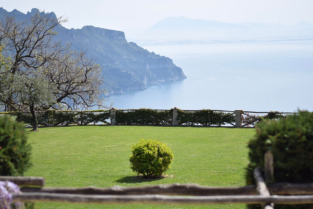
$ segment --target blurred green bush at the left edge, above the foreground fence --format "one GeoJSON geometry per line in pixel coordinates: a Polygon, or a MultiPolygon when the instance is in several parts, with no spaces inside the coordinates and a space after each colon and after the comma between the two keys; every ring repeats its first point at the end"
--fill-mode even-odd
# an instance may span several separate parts
{"type": "Polygon", "coordinates": [[[16,117],[0,117],[0,175],[23,175],[31,165],[31,147],[27,143],[25,124],[16,117]]]}

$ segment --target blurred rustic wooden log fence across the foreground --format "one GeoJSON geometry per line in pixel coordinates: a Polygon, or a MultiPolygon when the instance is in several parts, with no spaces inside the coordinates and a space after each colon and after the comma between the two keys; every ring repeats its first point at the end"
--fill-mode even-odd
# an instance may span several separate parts
{"type": "MultiPolygon", "coordinates": [[[[273,154],[264,156],[265,180],[274,176],[273,154]]],[[[151,185],[107,188],[22,187],[13,194],[18,202],[67,202],[87,204],[261,204],[273,209],[275,204],[313,203],[313,183],[265,184],[261,169],[254,169],[255,185],[243,187],[207,187],[197,184],[151,185]]],[[[0,176],[18,185],[44,186],[43,178],[0,176]]]]}

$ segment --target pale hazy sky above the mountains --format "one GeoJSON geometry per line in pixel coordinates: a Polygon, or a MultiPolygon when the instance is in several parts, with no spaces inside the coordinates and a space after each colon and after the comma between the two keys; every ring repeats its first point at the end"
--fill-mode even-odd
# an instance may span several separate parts
{"type": "Polygon", "coordinates": [[[66,28],[84,25],[127,30],[149,28],[166,17],[222,22],[313,23],[313,0],[1,0],[7,11],[27,13],[32,8],[64,15],[66,28]]]}

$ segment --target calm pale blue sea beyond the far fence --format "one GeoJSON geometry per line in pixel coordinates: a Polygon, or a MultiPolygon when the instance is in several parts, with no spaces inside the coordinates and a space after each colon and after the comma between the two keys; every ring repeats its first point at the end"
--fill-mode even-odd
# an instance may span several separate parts
{"type": "Polygon", "coordinates": [[[116,108],[313,111],[313,41],[142,47],[170,57],[187,79],[113,95],[116,108]]]}

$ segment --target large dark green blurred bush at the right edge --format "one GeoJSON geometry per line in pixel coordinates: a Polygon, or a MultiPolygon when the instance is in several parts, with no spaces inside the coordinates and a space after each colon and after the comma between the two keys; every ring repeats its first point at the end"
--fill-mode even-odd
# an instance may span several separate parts
{"type": "MultiPolygon", "coordinates": [[[[247,184],[255,184],[253,170],[264,169],[264,153],[274,155],[274,182],[313,182],[313,113],[299,112],[256,125],[249,141],[247,184]]],[[[274,183],[268,182],[268,183],[274,183]]],[[[275,208],[311,208],[313,205],[275,205],[275,208]]],[[[249,206],[250,208],[258,208],[249,206]]]]}

